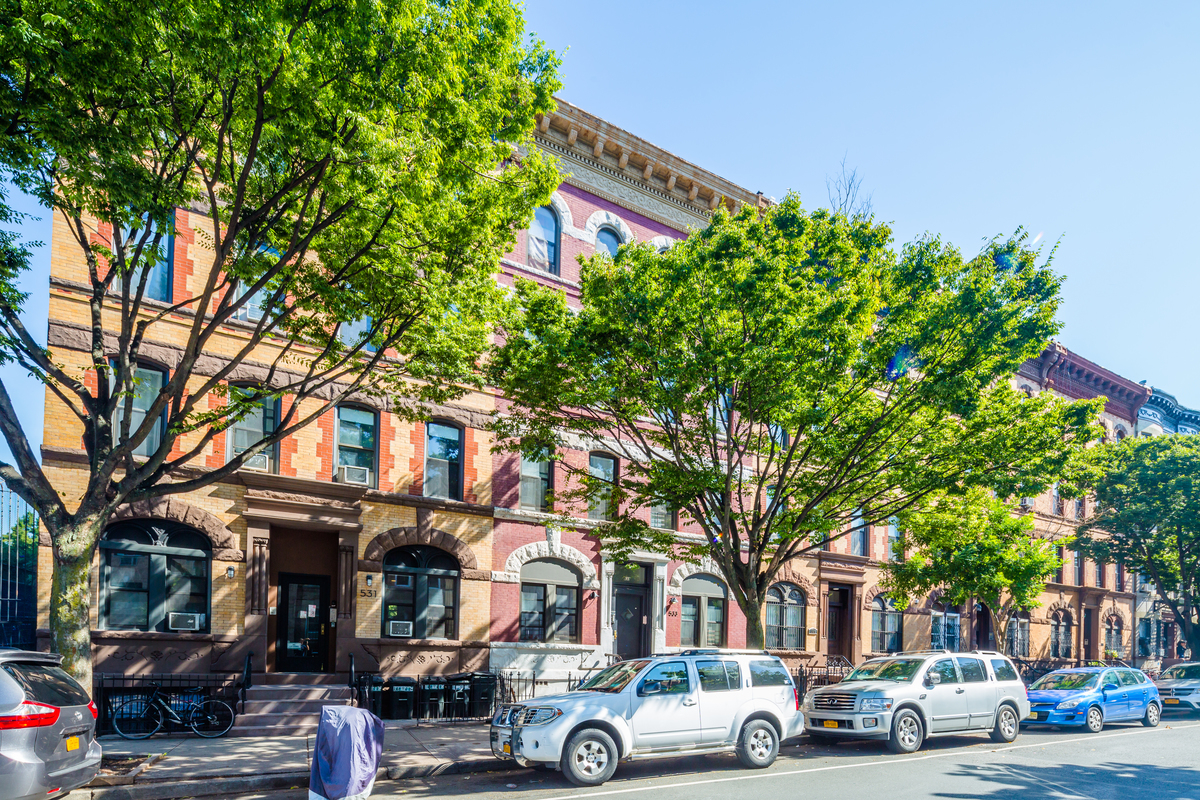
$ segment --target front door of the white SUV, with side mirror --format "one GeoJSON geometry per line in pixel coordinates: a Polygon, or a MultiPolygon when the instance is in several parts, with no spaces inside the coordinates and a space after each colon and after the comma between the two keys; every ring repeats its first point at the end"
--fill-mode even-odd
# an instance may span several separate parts
{"type": "Polygon", "coordinates": [[[660,750],[701,741],[696,680],[686,661],[664,661],[637,681],[630,727],[635,750],[660,750]]]}

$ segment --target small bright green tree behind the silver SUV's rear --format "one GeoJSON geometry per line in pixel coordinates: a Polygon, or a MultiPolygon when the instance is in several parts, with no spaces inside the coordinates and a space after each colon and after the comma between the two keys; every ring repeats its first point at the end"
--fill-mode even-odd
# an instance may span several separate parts
{"type": "Polygon", "coordinates": [[[935,589],[954,606],[980,601],[1001,646],[1014,614],[1036,608],[1046,581],[1062,567],[1055,546],[1034,535],[1032,516],[1014,513],[986,489],[937,494],[899,515],[898,523],[898,558],[881,582],[888,596],[900,608],[935,589]]]}

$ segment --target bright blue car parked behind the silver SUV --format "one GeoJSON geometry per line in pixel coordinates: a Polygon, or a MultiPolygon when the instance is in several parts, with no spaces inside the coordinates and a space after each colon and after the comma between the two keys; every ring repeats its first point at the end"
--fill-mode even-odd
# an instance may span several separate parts
{"type": "Polygon", "coordinates": [[[1092,733],[1106,722],[1158,724],[1163,700],[1140,669],[1079,667],[1046,673],[1030,686],[1025,726],[1082,726],[1092,733]]]}

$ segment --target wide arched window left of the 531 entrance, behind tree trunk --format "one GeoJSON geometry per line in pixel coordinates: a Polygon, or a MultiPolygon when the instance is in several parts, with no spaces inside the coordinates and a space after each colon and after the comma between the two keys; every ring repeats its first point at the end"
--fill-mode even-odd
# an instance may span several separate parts
{"type": "Polygon", "coordinates": [[[100,627],[208,633],[212,543],[187,525],[122,522],[100,541],[100,627]]]}

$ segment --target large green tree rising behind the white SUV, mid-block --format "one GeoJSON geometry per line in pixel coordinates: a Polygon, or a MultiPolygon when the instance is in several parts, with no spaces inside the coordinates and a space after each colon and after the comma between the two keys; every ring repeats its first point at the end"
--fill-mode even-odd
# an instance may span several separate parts
{"type": "MultiPolygon", "coordinates": [[[[936,237],[895,253],[862,215],[719,212],[658,253],[622,247],[582,273],[582,309],[520,284],[491,375],[509,446],[604,449],[610,485],[563,463],[569,501],[612,495],[600,534],[712,558],[763,644],[762,603],[788,560],[949,487],[1033,494],[1098,428],[1096,403],[1018,396],[1008,378],[1055,331],[1058,278],[1024,246],[976,258],[936,237]],[[698,543],[648,528],[683,510],[698,543]]],[[[565,521],[564,521],[565,522],[565,521]]]]}

